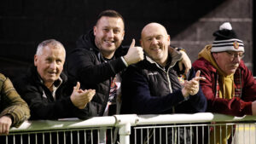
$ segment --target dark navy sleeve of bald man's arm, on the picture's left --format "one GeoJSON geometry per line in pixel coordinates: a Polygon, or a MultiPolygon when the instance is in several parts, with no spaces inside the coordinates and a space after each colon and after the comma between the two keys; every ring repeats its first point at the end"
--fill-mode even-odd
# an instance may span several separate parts
{"type": "Polygon", "coordinates": [[[127,108],[123,112],[137,114],[160,114],[172,110],[172,107],[184,101],[181,90],[165,96],[151,95],[147,78],[136,67],[131,66],[122,81],[122,96],[124,105],[131,106],[131,110],[127,108]]]}

